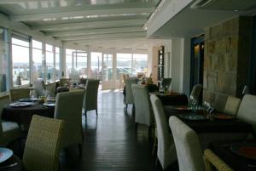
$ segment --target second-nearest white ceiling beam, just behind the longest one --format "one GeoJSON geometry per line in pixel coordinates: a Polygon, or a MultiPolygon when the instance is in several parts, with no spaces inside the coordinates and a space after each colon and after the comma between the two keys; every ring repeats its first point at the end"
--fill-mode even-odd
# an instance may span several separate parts
{"type": "Polygon", "coordinates": [[[82,28],[96,28],[104,26],[143,26],[146,19],[139,20],[104,20],[104,21],[94,21],[94,22],[80,22],[80,23],[67,23],[67,24],[56,24],[56,25],[42,25],[42,26],[32,26],[32,30],[40,31],[55,31],[55,30],[68,30],[68,29],[82,29],[82,28]]]}

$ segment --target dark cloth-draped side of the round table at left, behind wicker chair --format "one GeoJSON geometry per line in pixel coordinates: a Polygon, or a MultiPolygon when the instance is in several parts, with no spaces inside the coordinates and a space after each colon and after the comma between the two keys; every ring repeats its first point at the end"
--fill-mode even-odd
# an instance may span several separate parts
{"type": "Polygon", "coordinates": [[[55,107],[47,107],[38,103],[26,107],[11,107],[9,105],[4,105],[2,119],[19,123],[25,130],[28,130],[34,114],[44,117],[54,117],[55,107]]]}

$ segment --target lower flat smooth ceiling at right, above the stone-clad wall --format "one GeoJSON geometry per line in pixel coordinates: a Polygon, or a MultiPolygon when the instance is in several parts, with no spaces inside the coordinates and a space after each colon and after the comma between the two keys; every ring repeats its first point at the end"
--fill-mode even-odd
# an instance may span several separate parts
{"type": "Polygon", "coordinates": [[[255,14],[256,0],[195,0],[148,37],[195,37],[224,20],[255,14]]]}

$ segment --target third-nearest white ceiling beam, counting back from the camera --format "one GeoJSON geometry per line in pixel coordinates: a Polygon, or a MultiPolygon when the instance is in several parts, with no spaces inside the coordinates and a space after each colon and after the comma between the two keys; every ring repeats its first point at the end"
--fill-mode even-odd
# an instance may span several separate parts
{"type": "Polygon", "coordinates": [[[53,31],[45,33],[49,37],[69,37],[79,35],[94,35],[94,34],[106,34],[106,33],[119,33],[119,32],[135,32],[144,31],[143,27],[120,27],[120,28],[108,28],[108,29],[90,29],[79,31],[53,31]]]}

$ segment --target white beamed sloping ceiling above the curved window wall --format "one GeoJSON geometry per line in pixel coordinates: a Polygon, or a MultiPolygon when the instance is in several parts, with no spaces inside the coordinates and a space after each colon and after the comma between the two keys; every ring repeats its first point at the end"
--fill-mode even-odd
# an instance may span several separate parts
{"type": "Polygon", "coordinates": [[[148,49],[144,23],[160,0],[1,0],[0,12],[67,44],[148,49]]]}

